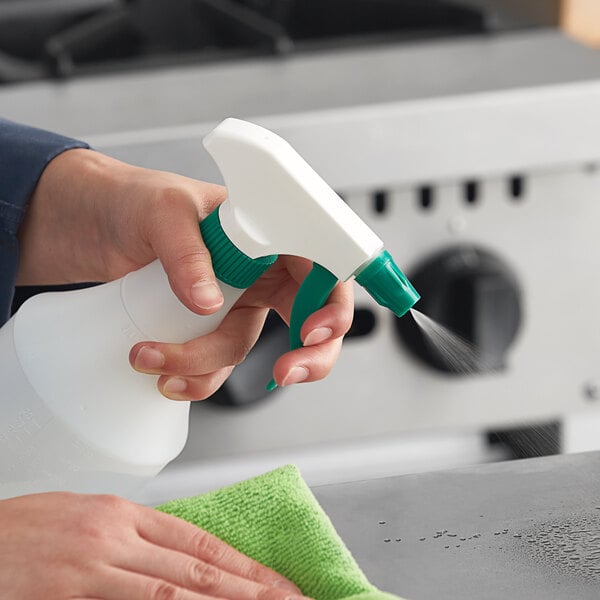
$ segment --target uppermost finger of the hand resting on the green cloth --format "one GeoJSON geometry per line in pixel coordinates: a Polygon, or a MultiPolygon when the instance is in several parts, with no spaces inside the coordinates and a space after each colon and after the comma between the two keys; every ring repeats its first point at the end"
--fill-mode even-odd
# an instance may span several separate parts
{"type": "Polygon", "coordinates": [[[137,532],[146,541],[182,552],[233,575],[269,586],[286,587],[301,594],[298,587],[273,569],[239,552],[217,536],[174,517],[147,507],[137,522],[137,532]]]}

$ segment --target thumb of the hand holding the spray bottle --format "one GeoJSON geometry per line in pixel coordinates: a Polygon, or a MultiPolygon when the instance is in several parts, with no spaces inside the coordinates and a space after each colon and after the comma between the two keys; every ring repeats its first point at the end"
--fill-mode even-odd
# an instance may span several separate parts
{"type": "Polygon", "coordinates": [[[154,229],[152,247],[179,300],[198,314],[216,312],[223,294],[202,241],[198,211],[193,204],[171,205],[154,229]]]}

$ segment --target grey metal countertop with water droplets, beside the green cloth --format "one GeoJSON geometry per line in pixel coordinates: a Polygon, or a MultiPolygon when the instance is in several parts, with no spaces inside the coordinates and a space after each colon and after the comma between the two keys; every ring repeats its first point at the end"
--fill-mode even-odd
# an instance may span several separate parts
{"type": "Polygon", "coordinates": [[[313,491],[372,583],[408,600],[600,598],[600,452],[313,491]]]}

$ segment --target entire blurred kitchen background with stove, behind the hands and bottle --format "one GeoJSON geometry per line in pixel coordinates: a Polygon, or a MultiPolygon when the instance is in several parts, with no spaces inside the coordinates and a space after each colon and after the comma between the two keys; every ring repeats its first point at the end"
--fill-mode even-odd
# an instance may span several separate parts
{"type": "Polygon", "coordinates": [[[598,48],[595,0],[0,0],[2,117],[209,181],[202,137],[264,125],[486,356],[457,371],[357,288],[331,376],[267,393],[272,316],[143,500],[598,449],[598,48]]]}

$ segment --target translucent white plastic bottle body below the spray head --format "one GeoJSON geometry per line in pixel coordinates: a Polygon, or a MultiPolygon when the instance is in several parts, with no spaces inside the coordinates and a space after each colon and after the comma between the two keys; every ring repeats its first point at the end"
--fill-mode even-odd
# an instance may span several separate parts
{"type": "Polygon", "coordinates": [[[0,329],[0,498],[69,490],[131,497],[182,450],[189,402],[128,362],[139,341],[182,343],[216,329],[244,290],[199,316],[158,261],[84,290],[29,299],[0,329]]]}

